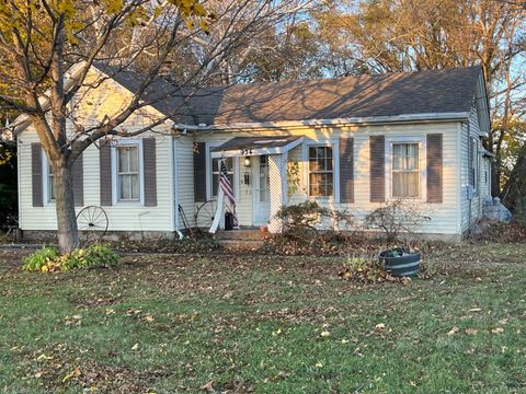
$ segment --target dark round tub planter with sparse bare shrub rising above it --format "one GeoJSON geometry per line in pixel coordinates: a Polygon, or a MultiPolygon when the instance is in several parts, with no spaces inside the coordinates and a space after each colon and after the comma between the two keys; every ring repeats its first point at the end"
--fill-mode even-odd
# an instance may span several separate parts
{"type": "Polygon", "coordinates": [[[427,220],[431,218],[404,200],[387,202],[385,207],[367,215],[365,222],[369,229],[381,230],[389,244],[398,243],[398,246],[381,251],[379,254],[380,263],[389,274],[407,277],[419,273],[422,254],[412,247],[412,241],[416,229],[427,220]]]}

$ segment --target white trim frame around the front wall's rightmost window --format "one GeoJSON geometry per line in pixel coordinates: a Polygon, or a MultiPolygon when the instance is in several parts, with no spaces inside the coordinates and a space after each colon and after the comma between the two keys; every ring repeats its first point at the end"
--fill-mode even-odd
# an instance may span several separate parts
{"type": "Polygon", "coordinates": [[[398,199],[426,201],[427,200],[427,158],[426,158],[426,137],[389,137],[386,138],[386,198],[388,201],[398,199]],[[420,167],[420,196],[419,197],[393,197],[392,196],[392,176],[391,176],[391,158],[393,143],[418,143],[419,144],[419,167],[420,167]]]}

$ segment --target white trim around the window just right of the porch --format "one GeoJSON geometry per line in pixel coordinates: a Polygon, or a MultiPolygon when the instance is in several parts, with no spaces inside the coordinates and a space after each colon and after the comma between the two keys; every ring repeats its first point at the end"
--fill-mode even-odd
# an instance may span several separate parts
{"type": "Polygon", "coordinates": [[[323,139],[313,140],[308,139],[302,143],[301,159],[304,162],[302,183],[307,186],[307,198],[315,201],[340,204],[340,140],[339,139],[323,139]],[[310,147],[332,147],[332,170],[333,170],[333,185],[332,196],[315,197],[310,196],[310,181],[309,181],[309,148],[310,147]]]}

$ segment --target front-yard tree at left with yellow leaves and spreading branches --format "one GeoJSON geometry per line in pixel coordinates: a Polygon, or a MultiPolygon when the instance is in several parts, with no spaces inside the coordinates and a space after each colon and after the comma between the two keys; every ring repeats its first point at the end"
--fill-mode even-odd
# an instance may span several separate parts
{"type": "MultiPolygon", "coordinates": [[[[205,8],[199,0],[1,2],[0,109],[23,112],[24,119],[36,129],[54,174],[57,236],[62,253],[79,244],[71,170],[82,151],[102,138],[132,135],[119,126],[132,114],[152,104],[145,99],[148,88],[170,60],[184,62],[191,55],[188,50],[198,51],[199,61],[192,67],[175,63],[180,70],[178,88],[174,85],[165,96],[180,94],[186,85],[205,84],[216,67],[247,37],[266,26],[267,21],[276,23],[276,14],[289,3],[210,1],[205,8]],[[217,23],[221,24],[220,35],[210,39],[217,34],[217,23]],[[196,47],[199,43],[209,44],[196,47]],[[80,91],[100,85],[101,81],[88,78],[95,61],[108,63],[117,72],[135,69],[144,78],[133,99],[116,114],[83,127],[75,124],[70,103],[80,91]]],[[[163,97],[157,95],[156,100],[163,97]]],[[[77,96],[76,105],[78,100],[77,96]]],[[[133,135],[164,120],[157,119],[133,135]]]]}

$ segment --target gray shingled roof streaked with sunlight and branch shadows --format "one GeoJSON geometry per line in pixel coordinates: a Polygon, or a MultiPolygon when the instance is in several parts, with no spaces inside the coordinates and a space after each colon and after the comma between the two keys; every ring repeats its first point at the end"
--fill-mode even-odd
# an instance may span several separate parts
{"type": "MultiPolygon", "coordinates": [[[[480,67],[470,67],[183,90],[158,78],[146,99],[172,93],[152,106],[176,123],[195,126],[465,113],[480,72],[480,67]]],[[[133,92],[140,83],[129,71],[113,78],[133,92]]]]}

